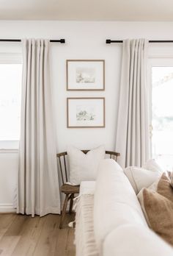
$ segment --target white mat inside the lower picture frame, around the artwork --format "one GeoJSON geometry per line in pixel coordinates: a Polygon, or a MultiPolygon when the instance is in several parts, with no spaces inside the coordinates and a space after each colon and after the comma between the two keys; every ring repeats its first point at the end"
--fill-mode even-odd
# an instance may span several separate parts
{"type": "Polygon", "coordinates": [[[67,99],[68,127],[104,127],[104,99],[67,99]],[[77,120],[77,114],[87,111],[93,120],[77,120]]]}

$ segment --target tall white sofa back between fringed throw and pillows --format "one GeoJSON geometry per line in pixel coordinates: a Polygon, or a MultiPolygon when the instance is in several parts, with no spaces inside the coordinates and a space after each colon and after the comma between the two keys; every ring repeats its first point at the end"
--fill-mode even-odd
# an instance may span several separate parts
{"type": "Polygon", "coordinates": [[[106,235],[120,225],[147,227],[136,193],[122,168],[114,160],[100,162],[95,184],[94,230],[101,249],[106,235]]]}

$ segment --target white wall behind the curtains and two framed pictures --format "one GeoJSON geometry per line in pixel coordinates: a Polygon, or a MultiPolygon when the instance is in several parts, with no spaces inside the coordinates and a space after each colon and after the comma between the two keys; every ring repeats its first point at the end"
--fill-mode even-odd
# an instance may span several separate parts
{"type": "MultiPolygon", "coordinates": [[[[156,22],[76,22],[76,21],[0,21],[0,38],[65,38],[65,44],[51,45],[51,78],[54,90],[57,152],[72,144],[90,149],[105,144],[114,149],[119,73],[122,44],[106,45],[106,39],[147,38],[150,40],[173,40],[173,23],[156,22]],[[104,59],[106,62],[106,90],[104,92],[67,92],[65,60],[104,59]],[[106,97],[106,127],[100,129],[67,129],[66,98],[73,96],[106,97]]],[[[20,43],[0,43],[0,52],[6,47],[21,51],[20,43]]],[[[170,45],[166,48],[169,49],[170,45]]],[[[152,52],[163,45],[150,46],[152,52]]],[[[170,54],[172,48],[169,49],[170,54]]],[[[172,51],[173,55],[173,51],[172,51]]],[[[123,117],[122,117],[123,118],[123,117]]],[[[12,191],[16,183],[18,153],[0,153],[0,210],[9,210],[12,191]]]]}

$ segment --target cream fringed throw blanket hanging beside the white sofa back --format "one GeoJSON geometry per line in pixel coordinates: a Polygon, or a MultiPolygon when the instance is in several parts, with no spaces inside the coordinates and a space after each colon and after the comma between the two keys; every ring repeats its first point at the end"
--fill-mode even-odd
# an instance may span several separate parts
{"type": "Polygon", "coordinates": [[[76,204],[76,256],[98,256],[93,226],[94,195],[78,197],[76,204]]]}

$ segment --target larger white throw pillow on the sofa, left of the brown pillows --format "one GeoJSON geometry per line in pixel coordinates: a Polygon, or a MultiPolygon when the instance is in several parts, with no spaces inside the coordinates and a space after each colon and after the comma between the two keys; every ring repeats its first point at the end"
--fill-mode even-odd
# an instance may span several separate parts
{"type": "Polygon", "coordinates": [[[148,188],[155,180],[161,177],[162,172],[151,171],[140,167],[130,166],[124,169],[135,193],[139,193],[142,188],[148,188]]]}

